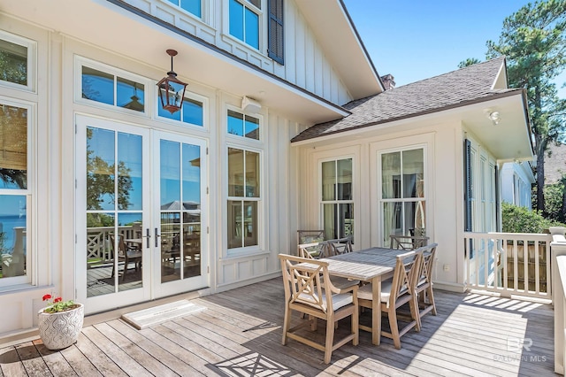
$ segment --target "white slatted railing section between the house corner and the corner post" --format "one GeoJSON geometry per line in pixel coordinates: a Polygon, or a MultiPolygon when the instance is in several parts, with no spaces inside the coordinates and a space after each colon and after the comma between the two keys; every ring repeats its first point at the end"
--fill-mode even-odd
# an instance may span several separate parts
{"type": "Polygon", "coordinates": [[[552,235],[464,233],[468,288],[550,299],[552,235]]]}

